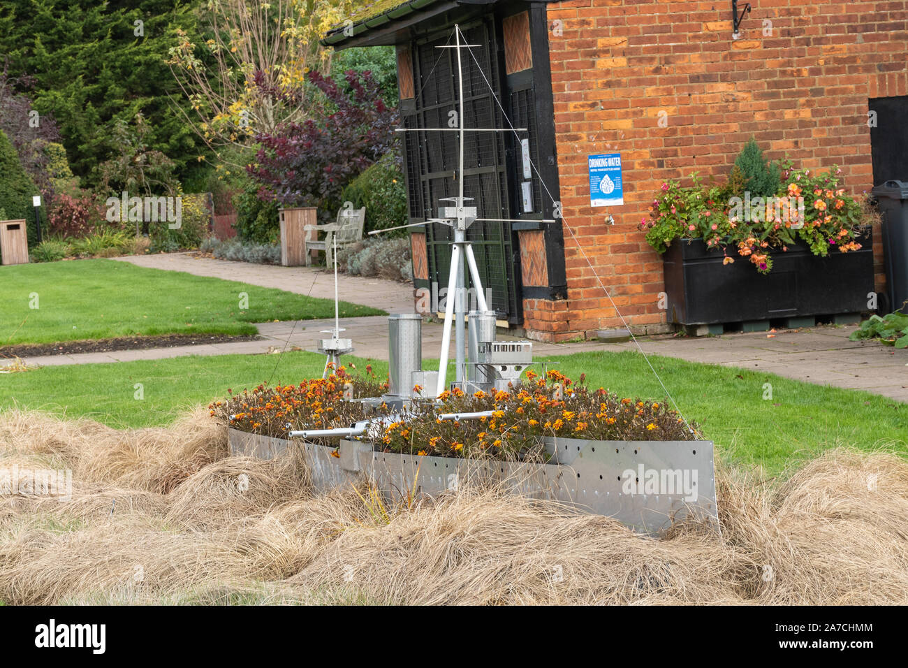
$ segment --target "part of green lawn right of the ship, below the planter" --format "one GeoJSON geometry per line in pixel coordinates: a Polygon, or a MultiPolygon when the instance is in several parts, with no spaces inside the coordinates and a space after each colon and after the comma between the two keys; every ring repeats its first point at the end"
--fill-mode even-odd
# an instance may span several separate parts
{"type": "MultiPolygon", "coordinates": [[[[637,353],[583,353],[560,361],[563,374],[576,379],[585,373],[587,383],[618,394],[665,394],[637,353]]],[[[650,361],[682,414],[700,424],[726,463],[763,464],[775,474],[837,444],[908,454],[908,404],[718,364],[656,355],[650,361]],[[764,399],[767,383],[771,399],[764,399]]]]}

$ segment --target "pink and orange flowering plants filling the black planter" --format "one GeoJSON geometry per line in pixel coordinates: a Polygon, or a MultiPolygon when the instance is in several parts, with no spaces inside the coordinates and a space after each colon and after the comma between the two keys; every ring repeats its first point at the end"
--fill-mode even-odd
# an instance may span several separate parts
{"type": "Polygon", "coordinates": [[[723,186],[706,187],[696,173],[689,186],[667,181],[639,228],[659,253],[676,239],[700,239],[721,249],[724,264],[735,262],[736,254],[763,274],[773,267],[772,253],[785,253],[798,242],[822,256],[831,248],[842,253],[861,248],[855,239],[859,228],[873,220],[873,211],[866,197],[844,190],[838,167],[812,174],[788,161],[776,166],[781,179],[774,196],[744,191],[737,167],[723,186]]]}

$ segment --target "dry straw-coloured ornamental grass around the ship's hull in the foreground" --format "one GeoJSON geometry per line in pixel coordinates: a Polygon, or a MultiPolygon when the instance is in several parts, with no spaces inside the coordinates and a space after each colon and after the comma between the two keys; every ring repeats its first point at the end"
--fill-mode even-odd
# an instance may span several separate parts
{"type": "Polygon", "coordinates": [[[0,496],[5,603],[908,603],[908,463],[836,449],[785,483],[717,472],[723,535],[646,538],[462,488],[376,512],[298,454],[230,457],[207,412],[117,431],[0,414],[0,470],[68,468],[70,501],[0,496]]]}

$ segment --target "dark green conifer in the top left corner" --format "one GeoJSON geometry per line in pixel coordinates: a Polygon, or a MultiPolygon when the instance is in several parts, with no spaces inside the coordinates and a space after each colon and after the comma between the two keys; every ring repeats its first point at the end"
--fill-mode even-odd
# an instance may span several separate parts
{"type": "Polygon", "coordinates": [[[0,8],[10,74],[34,77],[35,110],[54,115],[85,184],[98,184],[97,165],[114,155],[114,126],[139,113],[152,129],[149,145],[180,176],[199,169],[202,142],[173,105],[192,110],[165,62],[177,29],[195,35],[199,0],[190,3],[7,0],[0,8]]]}

